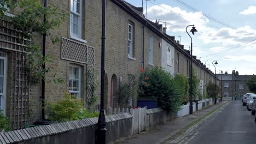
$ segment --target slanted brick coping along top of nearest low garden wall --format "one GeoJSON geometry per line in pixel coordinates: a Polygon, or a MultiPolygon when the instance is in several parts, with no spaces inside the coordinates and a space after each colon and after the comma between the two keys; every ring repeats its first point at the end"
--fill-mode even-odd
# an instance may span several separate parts
{"type": "MultiPolygon", "coordinates": [[[[130,113],[118,113],[115,115],[106,116],[106,123],[121,121],[123,119],[132,118],[130,113]]],[[[97,124],[98,118],[85,118],[77,121],[61,122],[50,125],[42,125],[27,129],[20,129],[0,133],[0,143],[17,143],[36,139],[38,137],[49,136],[64,133],[75,129],[90,127],[97,124]]]]}

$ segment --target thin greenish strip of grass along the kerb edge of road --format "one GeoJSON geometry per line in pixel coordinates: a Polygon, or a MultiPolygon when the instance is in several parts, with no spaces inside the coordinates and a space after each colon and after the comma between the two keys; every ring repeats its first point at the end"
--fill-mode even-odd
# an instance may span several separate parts
{"type": "MultiPolygon", "coordinates": [[[[229,102],[228,102],[229,103],[229,102]]],[[[220,105],[219,107],[217,107],[217,109],[214,109],[210,112],[208,112],[206,115],[200,117],[200,118],[197,118],[194,122],[190,123],[189,125],[187,125],[186,127],[184,127],[183,129],[179,130],[176,134],[174,134],[173,136],[171,136],[169,139],[167,139],[166,141],[168,140],[175,140],[177,139],[177,137],[183,135],[189,128],[193,127],[195,124],[197,123],[200,123],[205,117],[207,116],[210,116],[212,113],[216,112],[217,110],[220,109],[220,107],[228,104],[228,103],[224,103],[222,105],[220,105]]],[[[206,109],[206,108],[205,108],[206,109]]]]}

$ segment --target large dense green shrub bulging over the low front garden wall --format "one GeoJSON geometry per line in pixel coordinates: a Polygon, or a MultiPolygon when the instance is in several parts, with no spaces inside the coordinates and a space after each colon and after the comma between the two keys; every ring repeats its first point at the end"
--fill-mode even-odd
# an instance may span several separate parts
{"type": "Polygon", "coordinates": [[[141,70],[139,76],[139,97],[150,96],[157,99],[159,107],[176,112],[181,105],[179,92],[170,73],[154,67],[141,70]]]}

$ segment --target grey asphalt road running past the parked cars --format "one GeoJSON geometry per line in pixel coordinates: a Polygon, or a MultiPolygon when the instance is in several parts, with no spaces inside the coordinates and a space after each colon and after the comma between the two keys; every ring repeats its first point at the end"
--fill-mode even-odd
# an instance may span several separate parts
{"type": "Polygon", "coordinates": [[[256,143],[256,124],[241,101],[230,101],[187,133],[166,143],[256,143]]]}

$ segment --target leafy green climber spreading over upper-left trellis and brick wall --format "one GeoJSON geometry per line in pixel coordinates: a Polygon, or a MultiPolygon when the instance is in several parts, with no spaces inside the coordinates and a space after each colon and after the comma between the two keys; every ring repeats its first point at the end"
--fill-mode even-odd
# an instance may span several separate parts
{"type": "MultiPolygon", "coordinates": [[[[63,21],[66,20],[67,14],[65,11],[57,7],[49,6],[45,8],[40,0],[2,0],[0,1],[0,16],[1,19],[8,20],[13,23],[14,28],[20,33],[20,40],[28,39],[27,43],[28,64],[27,69],[30,71],[31,85],[37,85],[45,81],[45,75],[53,68],[43,68],[43,64],[51,62],[49,55],[43,56],[41,46],[38,43],[40,35],[45,34],[53,44],[60,41],[60,37],[51,32],[58,28],[63,21]],[[9,16],[9,11],[16,11],[14,16],[9,16]],[[45,16],[45,21],[44,20],[45,16]]],[[[19,43],[19,41],[18,41],[19,43]]],[[[55,75],[52,77],[54,82],[63,82],[62,79],[55,75]]]]}

